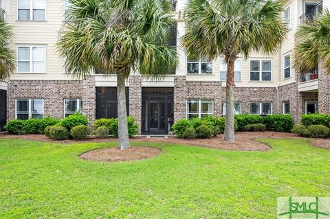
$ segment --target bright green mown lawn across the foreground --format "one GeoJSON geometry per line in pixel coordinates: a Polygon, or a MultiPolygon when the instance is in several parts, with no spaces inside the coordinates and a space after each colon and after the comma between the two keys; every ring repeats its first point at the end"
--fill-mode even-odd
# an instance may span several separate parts
{"type": "Polygon", "coordinates": [[[265,219],[276,218],[278,196],[330,196],[330,150],[261,141],[274,149],[155,143],[163,153],[153,159],[98,163],[77,156],[111,143],[1,139],[0,218],[265,219]]]}

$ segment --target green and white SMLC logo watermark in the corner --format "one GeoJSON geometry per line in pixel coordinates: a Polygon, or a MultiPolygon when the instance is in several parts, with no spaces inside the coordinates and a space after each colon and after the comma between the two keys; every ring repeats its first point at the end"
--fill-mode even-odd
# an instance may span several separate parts
{"type": "Polygon", "coordinates": [[[277,198],[278,219],[330,219],[330,197],[277,198]]]}

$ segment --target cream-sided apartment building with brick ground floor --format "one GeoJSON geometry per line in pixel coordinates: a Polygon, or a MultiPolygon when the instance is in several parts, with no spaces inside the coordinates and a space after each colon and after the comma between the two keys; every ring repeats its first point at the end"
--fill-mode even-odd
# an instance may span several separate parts
{"type": "MultiPolygon", "coordinates": [[[[127,109],[143,135],[166,135],[181,118],[225,114],[223,59],[196,60],[179,47],[185,32],[186,1],[175,1],[177,70],[159,82],[148,81],[139,73],[126,82],[127,109]]],[[[72,79],[56,54],[65,6],[64,0],[1,0],[3,16],[14,27],[13,47],[17,51],[17,71],[0,84],[0,98],[7,102],[6,107],[0,107],[2,120],[3,115],[7,120],[47,115],[61,118],[76,111],[87,115],[91,123],[117,117],[115,76],[72,79]]],[[[315,19],[316,12],[325,7],[330,8],[330,0],[287,1],[283,19],[289,31],[281,49],[270,56],[254,53],[247,60],[236,60],[235,113],[291,113],[296,122],[304,113],[330,113],[330,78],[322,66],[304,75],[292,67],[297,27],[315,19]]]]}

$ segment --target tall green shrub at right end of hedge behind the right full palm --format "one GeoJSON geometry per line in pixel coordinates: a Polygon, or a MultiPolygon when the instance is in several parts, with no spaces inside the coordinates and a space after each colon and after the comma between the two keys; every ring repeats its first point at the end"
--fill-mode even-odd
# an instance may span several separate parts
{"type": "Polygon", "coordinates": [[[294,119],[292,115],[267,115],[263,117],[263,124],[265,124],[267,130],[276,132],[290,132],[294,127],[294,119]]]}

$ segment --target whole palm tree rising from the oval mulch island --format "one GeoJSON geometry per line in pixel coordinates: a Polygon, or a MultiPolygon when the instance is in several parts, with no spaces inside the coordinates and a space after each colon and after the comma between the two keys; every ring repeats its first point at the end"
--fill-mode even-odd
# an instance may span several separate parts
{"type": "Polygon", "coordinates": [[[125,80],[131,72],[159,79],[175,68],[168,46],[175,25],[165,0],[69,0],[58,52],[78,78],[98,72],[117,76],[118,143],[129,148],[125,80]]]}

